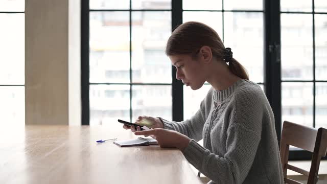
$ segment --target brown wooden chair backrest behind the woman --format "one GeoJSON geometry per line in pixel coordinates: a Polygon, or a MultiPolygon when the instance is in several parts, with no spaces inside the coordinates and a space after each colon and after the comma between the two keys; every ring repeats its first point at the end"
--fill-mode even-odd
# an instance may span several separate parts
{"type": "Polygon", "coordinates": [[[300,183],[298,181],[286,178],[287,169],[308,176],[308,184],[318,181],[318,171],[321,157],[326,155],[327,151],[327,129],[315,129],[288,121],[284,121],[281,139],[281,160],[285,183],[300,183]],[[288,164],[290,145],[313,153],[310,171],[300,169],[288,164]]]}

